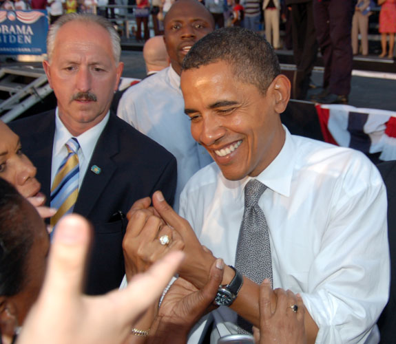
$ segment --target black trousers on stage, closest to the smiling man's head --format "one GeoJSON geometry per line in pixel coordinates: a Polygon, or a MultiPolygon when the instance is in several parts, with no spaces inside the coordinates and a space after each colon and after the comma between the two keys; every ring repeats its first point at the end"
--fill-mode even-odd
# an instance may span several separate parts
{"type": "Polygon", "coordinates": [[[312,1],[291,5],[291,23],[293,27],[293,54],[297,67],[293,79],[293,98],[304,99],[309,89],[309,81],[315,65],[318,47],[313,23],[312,1]]]}

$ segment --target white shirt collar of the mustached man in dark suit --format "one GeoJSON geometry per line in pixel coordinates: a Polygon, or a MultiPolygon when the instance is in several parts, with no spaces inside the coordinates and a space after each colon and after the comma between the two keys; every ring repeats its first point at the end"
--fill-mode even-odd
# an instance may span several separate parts
{"type": "MultiPolygon", "coordinates": [[[[105,126],[107,125],[109,118],[110,118],[110,111],[107,112],[105,118],[103,118],[101,122],[99,122],[91,129],[85,131],[84,133],[76,137],[77,140],[79,140],[81,153],[83,154],[83,158],[86,162],[89,162],[91,160],[92,153],[96,146],[96,142],[98,142],[98,138],[99,136],[101,136],[101,133],[105,128],[105,126]]],[[[65,127],[65,125],[63,125],[61,118],[59,118],[59,112],[57,107],[56,107],[55,125],[56,125],[56,129],[55,129],[55,140],[54,140],[54,153],[59,154],[61,153],[61,149],[65,147],[66,142],[74,136],[72,136],[72,134],[65,127]]]]}

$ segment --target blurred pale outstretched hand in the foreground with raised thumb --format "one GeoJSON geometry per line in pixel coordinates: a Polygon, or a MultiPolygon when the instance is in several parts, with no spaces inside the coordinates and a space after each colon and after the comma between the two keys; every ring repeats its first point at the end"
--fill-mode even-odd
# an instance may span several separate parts
{"type": "Polygon", "coordinates": [[[123,343],[183,259],[182,252],[170,253],[127,288],[88,297],[82,290],[90,236],[90,225],[79,215],[68,215],[56,226],[45,282],[18,344],[123,343]]]}

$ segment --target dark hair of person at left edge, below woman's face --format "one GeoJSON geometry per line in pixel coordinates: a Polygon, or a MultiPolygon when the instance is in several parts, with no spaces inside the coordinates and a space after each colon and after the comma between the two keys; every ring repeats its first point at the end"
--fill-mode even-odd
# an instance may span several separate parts
{"type": "Polygon", "coordinates": [[[26,281],[33,231],[23,214],[23,196],[0,178],[0,295],[18,294],[26,281]]]}

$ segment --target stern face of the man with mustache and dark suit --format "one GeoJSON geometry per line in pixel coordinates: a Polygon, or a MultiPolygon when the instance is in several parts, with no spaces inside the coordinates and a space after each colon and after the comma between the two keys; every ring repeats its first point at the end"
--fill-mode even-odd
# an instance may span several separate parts
{"type": "Polygon", "coordinates": [[[43,63],[59,117],[74,136],[97,125],[110,109],[123,71],[101,25],[70,21],[56,34],[51,61],[43,63]]]}

